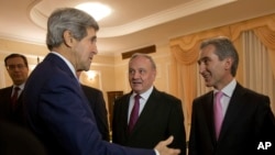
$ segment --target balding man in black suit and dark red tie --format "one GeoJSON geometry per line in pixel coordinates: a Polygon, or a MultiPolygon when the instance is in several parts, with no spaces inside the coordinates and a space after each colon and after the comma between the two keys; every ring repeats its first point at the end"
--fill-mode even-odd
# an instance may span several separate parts
{"type": "Polygon", "coordinates": [[[134,54],[129,62],[129,81],[132,91],[114,101],[112,142],[131,147],[153,148],[157,142],[174,135],[169,145],[186,154],[186,133],[182,101],[168,93],[158,91],[153,82],[156,65],[151,56],[134,54]],[[134,96],[141,98],[139,119],[132,131],[131,111],[134,96]]]}

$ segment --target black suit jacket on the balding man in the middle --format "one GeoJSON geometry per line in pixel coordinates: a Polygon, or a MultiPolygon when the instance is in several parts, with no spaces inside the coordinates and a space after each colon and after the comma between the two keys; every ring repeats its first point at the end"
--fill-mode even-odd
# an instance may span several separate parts
{"type": "Polygon", "coordinates": [[[128,134],[128,109],[131,92],[114,101],[112,141],[125,146],[153,148],[174,135],[170,147],[186,154],[186,133],[182,101],[154,88],[131,135],[128,134]]]}

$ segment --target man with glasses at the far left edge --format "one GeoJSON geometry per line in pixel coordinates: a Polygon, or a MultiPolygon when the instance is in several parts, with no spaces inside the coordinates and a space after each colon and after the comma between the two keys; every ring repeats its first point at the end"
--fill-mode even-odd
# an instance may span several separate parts
{"type": "Polygon", "coordinates": [[[24,55],[10,54],[4,58],[4,65],[13,85],[0,89],[0,119],[24,125],[21,95],[29,76],[28,60],[24,55]],[[18,92],[15,92],[16,87],[20,88],[18,92]]]}

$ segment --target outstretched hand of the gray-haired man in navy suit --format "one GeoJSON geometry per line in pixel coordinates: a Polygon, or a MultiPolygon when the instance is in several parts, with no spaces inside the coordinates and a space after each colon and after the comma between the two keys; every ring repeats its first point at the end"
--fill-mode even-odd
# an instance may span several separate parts
{"type": "Polygon", "coordinates": [[[174,137],[169,136],[167,140],[161,141],[155,146],[155,150],[160,153],[160,155],[178,155],[180,153],[180,150],[167,147],[167,145],[169,145],[173,142],[173,140],[174,137]]]}

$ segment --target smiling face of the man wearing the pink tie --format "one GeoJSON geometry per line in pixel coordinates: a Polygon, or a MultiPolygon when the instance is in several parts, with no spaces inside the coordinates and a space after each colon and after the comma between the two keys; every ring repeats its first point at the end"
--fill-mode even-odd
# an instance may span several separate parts
{"type": "Polygon", "coordinates": [[[220,90],[233,78],[230,73],[232,58],[219,59],[216,47],[211,44],[201,48],[198,65],[199,74],[204,77],[207,87],[220,90]]]}

